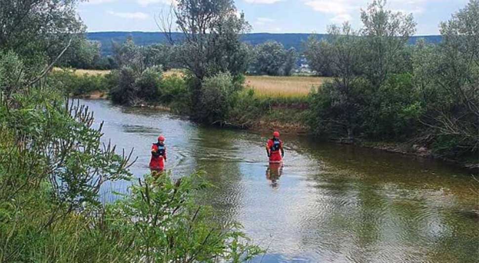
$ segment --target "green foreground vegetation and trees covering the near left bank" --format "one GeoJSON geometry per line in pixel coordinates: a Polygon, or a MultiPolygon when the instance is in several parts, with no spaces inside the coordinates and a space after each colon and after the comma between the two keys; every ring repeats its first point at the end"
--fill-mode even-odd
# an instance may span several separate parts
{"type": "Polygon", "coordinates": [[[239,262],[260,253],[239,225],[218,224],[196,204],[208,187],[199,176],[133,180],[130,155],[102,144],[102,125],[64,96],[65,80],[49,72],[83,33],[76,3],[1,1],[0,262],[239,262]],[[102,185],[119,180],[132,181],[129,194],[102,204],[102,185]]]}

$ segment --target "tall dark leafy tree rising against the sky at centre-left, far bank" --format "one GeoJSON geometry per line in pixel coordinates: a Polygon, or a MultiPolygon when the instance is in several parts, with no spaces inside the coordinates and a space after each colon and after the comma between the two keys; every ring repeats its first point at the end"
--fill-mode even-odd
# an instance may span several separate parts
{"type": "Polygon", "coordinates": [[[249,30],[244,14],[237,12],[232,0],[179,0],[173,7],[180,42],[171,34],[171,20],[163,17],[162,29],[170,44],[176,44],[176,58],[181,68],[191,74],[192,117],[205,120],[199,111],[201,83],[206,77],[229,72],[233,81],[241,81],[247,69],[248,49],[240,34],[249,30]]]}

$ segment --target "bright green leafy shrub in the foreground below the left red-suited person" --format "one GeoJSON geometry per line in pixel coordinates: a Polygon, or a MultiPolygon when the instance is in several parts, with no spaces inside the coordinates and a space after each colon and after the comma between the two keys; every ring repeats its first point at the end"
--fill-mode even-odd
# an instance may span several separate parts
{"type": "Polygon", "coordinates": [[[239,225],[217,225],[207,207],[195,204],[194,195],[205,187],[197,176],[176,182],[166,174],[147,177],[131,187],[130,197],[107,206],[107,231],[131,240],[130,261],[239,262],[258,254],[257,247],[244,243],[239,225]]]}

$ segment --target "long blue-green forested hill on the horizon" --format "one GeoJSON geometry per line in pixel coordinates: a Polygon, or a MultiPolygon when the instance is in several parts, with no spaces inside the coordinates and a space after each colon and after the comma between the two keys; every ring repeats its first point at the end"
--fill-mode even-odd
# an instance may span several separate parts
{"type": "MultiPolygon", "coordinates": [[[[180,33],[173,33],[176,38],[181,37],[180,33]]],[[[286,48],[294,47],[296,50],[303,49],[302,43],[308,39],[311,34],[270,34],[270,33],[252,33],[242,36],[243,41],[252,45],[260,44],[268,40],[276,40],[283,44],[286,48]]],[[[323,38],[325,34],[317,34],[319,38],[323,38]]],[[[112,40],[116,42],[123,42],[126,37],[132,36],[133,40],[138,45],[151,45],[154,43],[164,42],[166,40],[163,33],[158,32],[94,32],[87,33],[87,38],[90,40],[97,40],[101,42],[103,55],[112,54],[112,40]]],[[[411,44],[415,43],[417,39],[424,38],[429,43],[439,43],[441,36],[415,36],[409,41],[411,44]]]]}

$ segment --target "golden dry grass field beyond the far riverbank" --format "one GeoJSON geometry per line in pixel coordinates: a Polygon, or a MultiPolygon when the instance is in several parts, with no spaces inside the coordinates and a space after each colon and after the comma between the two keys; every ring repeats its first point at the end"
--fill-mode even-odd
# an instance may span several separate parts
{"type": "MultiPolygon", "coordinates": [[[[59,69],[54,69],[59,70],[59,69]]],[[[76,74],[106,75],[108,70],[76,70],[76,74]]],[[[164,75],[182,75],[181,70],[169,70],[164,75]]],[[[246,88],[255,90],[259,97],[292,98],[308,95],[312,87],[319,87],[327,77],[315,76],[246,76],[246,88]]]]}

